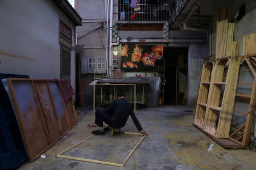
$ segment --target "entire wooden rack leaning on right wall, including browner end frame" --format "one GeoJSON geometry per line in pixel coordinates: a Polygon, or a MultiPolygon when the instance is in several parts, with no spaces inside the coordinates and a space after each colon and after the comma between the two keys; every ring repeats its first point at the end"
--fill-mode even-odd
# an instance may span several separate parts
{"type": "Polygon", "coordinates": [[[249,145],[256,105],[255,61],[256,54],[251,54],[242,57],[218,58],[214,63],[206,62],[203,65],[193,125],[204,131],[221,146],[246,148],[249,145]],[[237,82],[240,61],[249,66],[254,75],[253,83],[237,82]],[[224,79],[224,68],[228,63],[228,73],[224,79]],[[251,95],[236,94],[237,84],[253,86],[251,95]],[[225,87],[221,88],[221,86],[225,87]],[[224,91],[222,101],[220,101],[221,91],[224,91]],[[250,100],[247,113],[234,109],[236,97],[250,100]],[[240,128],[230,133],[233,112],[244,114],[247,119],[240,128]]]}

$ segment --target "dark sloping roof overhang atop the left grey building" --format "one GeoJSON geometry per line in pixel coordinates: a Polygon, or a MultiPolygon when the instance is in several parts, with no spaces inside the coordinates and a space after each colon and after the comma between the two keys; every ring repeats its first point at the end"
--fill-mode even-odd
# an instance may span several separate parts
{"type": "Polygon", "coordinates": [[[53,2],[72,20],[75,26],[82,25],[82,18],[67,0],[53,0],[53,2]]]}

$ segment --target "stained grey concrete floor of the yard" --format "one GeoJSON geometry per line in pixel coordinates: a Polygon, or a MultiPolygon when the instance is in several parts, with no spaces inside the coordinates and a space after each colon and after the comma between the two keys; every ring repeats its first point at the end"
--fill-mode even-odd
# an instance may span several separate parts
{"type": "MultiPolygon", "coordinates": [[[[192,109],[187,107],[146,108],[136,115],[148,136],[135,150],[125,167],[56,158],[56,154],[91,135],[94,122],[90,109],[77,111],[79,124],[33,163],[18,169],[255,169],[256,152],[225,149],[192,126],[192,109]],[[208,152],[211,143],[213,150],[208,152]]],[[[129,118],[123,131],[137,132],[129,118]]],[[[64,155],[122,164],[141,139],[138,135],[94,136],[64,155]]]]}

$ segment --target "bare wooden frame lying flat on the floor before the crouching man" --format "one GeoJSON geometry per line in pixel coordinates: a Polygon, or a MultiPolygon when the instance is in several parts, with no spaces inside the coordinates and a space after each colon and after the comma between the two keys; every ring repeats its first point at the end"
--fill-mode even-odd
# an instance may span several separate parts
{"type": "Polygon", "coordinates": [[[92,138],[94,136],[94,134],[90,135],[88,138],[82,140],[81,142],[76,143],[76,145],[73,145],[73,146],[67,148],[67,150],[61,152],[60,154],[57,154],[56,156],[57,156],[57,158],[66,158],[66,159],[72,159],[72,160],[80,160],[80,161],[84,161],[84,162],[92,162],[92,163],[98,163],[98,164],[112,165],[112,166],[116,166],[116,167],[123,167],[126,164],[126,162],[128,161],[128,159],[131,157],[131,155],[133,154],[135,149],[139,146],[139,144],[141,144],[143,139],[146,138],[146,136],[147,136],[147,135],[143,135],[143,134],[140,134],[140,133],[131,133],[131,132],[125,132],[125,134],[142,135],[143,137],[142,137],[141,141],[139,141],[137,143],[137,145],[133,148],[133,150],[131,150],[130,154],[127,156],[127,158],[125,159],[125,161],[122,164],[112,163],[112,162],[104,162],[104,161],[93,160],[93,159],[77,158],[77,157],[73,157],[73,156],[65,156],[65,155],[63,155],[66,152],[70,151],[72,148],[75,148],[76,146],[80,145],[82,142],[92,138]]]}

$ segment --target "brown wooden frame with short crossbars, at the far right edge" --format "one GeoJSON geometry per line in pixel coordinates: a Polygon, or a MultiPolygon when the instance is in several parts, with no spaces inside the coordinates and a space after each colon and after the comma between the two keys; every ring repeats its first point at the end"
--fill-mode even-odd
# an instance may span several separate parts
{"type": "Polygon", "coordinates": [[[229,135],[229,139],[233,142],[238,143],[241,146],[248,146],[250,141],[250,134],[251,134],[251,128],[253,126],[253,120],[254,120],[254,113],[255,113],[255,105],[256,105],[256,54],[242,56],[241,59],[243,62],[247,63],[249,66],[251,73],[254,75],[254,82],[253,83],[243,83],[238,82],[237,84],[244,84],[253,86],[251,95],[243,95],[243,94],[236,94],[236,97],[239,97],[240,99],[244,100],[250,100],[250,105],[248,112],[241,112],[237,110],[233,110],[233,112],[245,114],[247,116],[245,124],[243,124],[240,128],[233,131],[229,135]]]}

